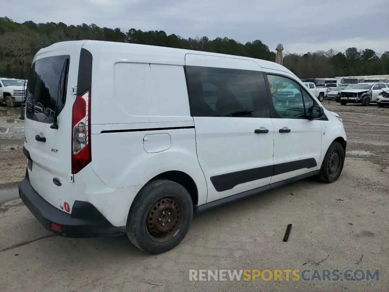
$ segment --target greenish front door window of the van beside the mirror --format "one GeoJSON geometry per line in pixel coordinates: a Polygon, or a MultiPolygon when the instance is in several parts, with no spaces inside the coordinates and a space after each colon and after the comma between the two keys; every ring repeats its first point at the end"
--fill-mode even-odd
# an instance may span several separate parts
{"type": "Polygon", "coordinates": [[[296,81],[284,76],[267,74],[275,110],[283,118],[306,118],[314,100],[296,81]]]}

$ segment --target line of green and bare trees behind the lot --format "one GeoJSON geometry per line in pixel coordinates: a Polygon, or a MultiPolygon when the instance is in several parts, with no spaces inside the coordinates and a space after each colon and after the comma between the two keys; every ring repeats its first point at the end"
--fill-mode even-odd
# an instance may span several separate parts
{"type": "MultiPolygon", "coordinates": [[[[154,46],[175,47],[273,61],[275,53],[254,40],[242,44],[227,37],[185,39],[164,31],[145,31],[131,28],[99,27],[95,24],[66,25],[65,23],[17,23],[7,17],[0,18],[0,76],[27,78],[35,53],[43,47],[65,40],[107,40],[154,46]]],[[[281,40],[282,42],[282,40],[281,40]]],[[[350,47],[345,52],[317,51],[306,54],[287,53],[284,66],[300,78],[389,74],[389,51],[378,55],[372,49],[350,47]]]]}

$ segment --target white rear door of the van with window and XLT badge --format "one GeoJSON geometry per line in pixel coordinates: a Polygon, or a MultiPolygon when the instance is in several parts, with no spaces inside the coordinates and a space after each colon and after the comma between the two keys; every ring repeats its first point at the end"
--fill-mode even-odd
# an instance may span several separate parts
{"type": "MultiPolygon", "coordinates": [[[[61,43],[60,43],[61,44],[61,43]]],[[[80,45],[37,53],[28,77],[25,154],[30,183],[54,207],[70,212],[76,199],[72,174],[72,106],[80,45]],[[56,122],[57,120],[57,122],[56,122]]],[[[45,51],[46,50],[46,51],[45,51]]]]}

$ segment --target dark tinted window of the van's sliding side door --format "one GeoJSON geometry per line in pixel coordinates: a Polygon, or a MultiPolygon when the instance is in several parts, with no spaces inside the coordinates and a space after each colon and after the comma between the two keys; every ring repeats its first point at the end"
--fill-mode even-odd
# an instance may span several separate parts
{"type": "Polygon", "coordinates": [[[262,72],[185,66],[191,116],[270,117],[262,72]]]}

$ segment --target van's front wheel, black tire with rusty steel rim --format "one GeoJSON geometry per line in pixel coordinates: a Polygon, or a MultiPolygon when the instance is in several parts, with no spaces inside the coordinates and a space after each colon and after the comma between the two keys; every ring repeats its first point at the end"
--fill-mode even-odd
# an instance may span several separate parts
{"type": "Polygon", "coordinates": [[[321,165],[319,179],[324,183],[333,183],[343,170],[345,153],[339,142],[332,142],[328,147],[321,165]]]}

